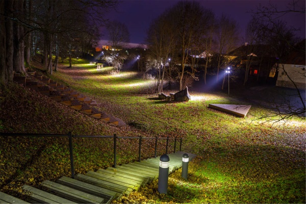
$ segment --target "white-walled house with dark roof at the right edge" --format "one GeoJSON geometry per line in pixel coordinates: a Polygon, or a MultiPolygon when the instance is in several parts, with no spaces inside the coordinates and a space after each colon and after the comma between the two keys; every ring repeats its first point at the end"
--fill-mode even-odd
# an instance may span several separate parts
{"type": "Polygon", "coordinates": [[[305,39],[292,48],[284,64],[278,65],[276,86],[305,89],[305,39]],[[293,82],[292,82],[292,81],[293,82]]]}

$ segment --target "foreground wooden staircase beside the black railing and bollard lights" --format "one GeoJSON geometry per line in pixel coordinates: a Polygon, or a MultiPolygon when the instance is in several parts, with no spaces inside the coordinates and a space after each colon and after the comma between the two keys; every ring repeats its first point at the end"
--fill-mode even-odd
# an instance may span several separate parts
{"type": "MultiPolygon", "coordinates": [[[[169,174],[182,167],[184,153],[179,151],[168,154],[169,174]]],[[[196,155],[188,156],[191,161],[196,155]]],[[[74,179],[63,176],[57,182],[46,180],[41,183],[40,189],[28,185],[22,188],[30,203],[110,203],[158,179],[159,159],[89,171],[85,175],[79,173],[74,179]]],[[[0,192],[0,203],[28,202],[0,192]]]]}

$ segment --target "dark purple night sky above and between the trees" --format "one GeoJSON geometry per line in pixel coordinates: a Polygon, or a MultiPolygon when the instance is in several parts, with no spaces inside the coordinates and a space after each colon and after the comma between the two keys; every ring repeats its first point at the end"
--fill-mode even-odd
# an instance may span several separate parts
{"type": "MultiPolygon", "coordinates": [[[[158,17],[167,8],[171,8],[175,5],[177,0],[122,0],[118,5],[117,11],[109,11],[106,13],[106,17],[110,20],[118,20],[127,25],[130,32],[130,42],[132,43],[144,43],[146,38],[146,31],[150,22],[158,17]]],[[[244,42],[245,27],[251,19],[251,10],[256,11],[257,7],[261,4],[268,5],[269,1],[231,1],[231,0],[215,0],[215,1],[199,1],[204,7],[213,10],[217,17],[220,17],[222,13],[231,16],[239,24],[239,33],[241,43],[244,42]]],[[[271,1],[273,4],[277,4],[277,8],[286,8],[291,1],[271,1]]],[[[305,1],[301,1],[305,6],[305,1]]],[[[290,14],[286,15],[286,21],[288,25],[292,25],[294,28],[300,28],[301,32],[298,36],[305,37],[305,14],[290,14]]],[[[104,39],[107,40],[107,33],[102,29],[105,34],[104,39]]]]}

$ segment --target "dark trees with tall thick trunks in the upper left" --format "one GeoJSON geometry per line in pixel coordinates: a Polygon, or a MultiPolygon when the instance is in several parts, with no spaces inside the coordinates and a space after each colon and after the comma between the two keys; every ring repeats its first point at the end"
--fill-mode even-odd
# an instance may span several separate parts
{"type": "Polygon", "coordinates": [[[73,52],[86,54],[98,40],[104,13],[117,0],[6,0],[0,1],[0,84],[25,72],[38,53],[44,69],[52,74],[59,58],[73,52]],[[55,56],[55,58],[53,58],[55,56]]]}

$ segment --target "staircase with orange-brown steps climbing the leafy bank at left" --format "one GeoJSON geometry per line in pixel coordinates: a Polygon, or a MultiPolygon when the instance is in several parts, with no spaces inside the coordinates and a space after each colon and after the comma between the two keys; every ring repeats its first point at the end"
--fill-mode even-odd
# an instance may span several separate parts
{"type": "Polygon", "coordinates": [[[55,82],[34,70],[26,69],[26,71],[28,73],[27,76],[21,76],[20,73],[14,73],[13,80],[25,87],[39,91],[71,109],[96,118],[109,125],[126,125],[121,119],[94,108],[93,106],[97,105],[97,103],[91,98],[73,91],[69,87],[55,82]]]}

